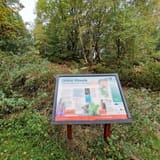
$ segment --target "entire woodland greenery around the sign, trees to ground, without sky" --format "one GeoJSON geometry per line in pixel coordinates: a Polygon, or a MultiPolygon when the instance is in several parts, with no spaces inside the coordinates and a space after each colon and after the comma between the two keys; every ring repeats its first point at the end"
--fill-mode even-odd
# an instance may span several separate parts
{"type": "Polygon", "coordinates": [[[160,1],[38,0],[31,29],[0,0],[0,160],[159,160],[160,1]],[[118,73],[132,123],[51,125],[57,74],[118,73]]]}

